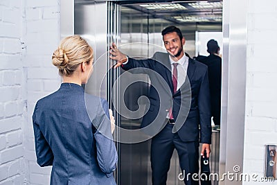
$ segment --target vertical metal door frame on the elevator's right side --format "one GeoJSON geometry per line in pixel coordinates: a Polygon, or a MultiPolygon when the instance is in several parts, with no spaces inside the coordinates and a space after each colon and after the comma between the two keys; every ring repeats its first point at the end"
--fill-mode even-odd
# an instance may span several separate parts
{"type": "MultiPolygon", "coordinates": [[[[223,1],[220,173],[242,172],[247,53],[247,0],[223,1]]],[[[225,178],[220,184],[242,184],[225,178]]]]}

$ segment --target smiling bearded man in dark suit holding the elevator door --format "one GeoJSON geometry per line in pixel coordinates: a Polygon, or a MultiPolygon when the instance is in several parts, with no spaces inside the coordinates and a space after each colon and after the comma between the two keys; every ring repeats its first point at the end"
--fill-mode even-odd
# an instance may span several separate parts
{"type": "Polygon", "coordinates": [[[114,68],[148,69],[144,71],[148,71],[152,84],[148,96],[150,107],[143,116],[141,127],[149,130],[154,127],[152,132],[157,132],[151,145],[152,184],[166,184],[175,148],[181,170],[186,175],[184,182],[199,184],[192,178],[193,173],[199,172],[199,140],[203,143],[201,155],[204,150],[209,155],[211,143],[208,69],[184,53],[185,38],[179,28],[168,26],[162,35],[168,53],[155,53],[152,59],[134,60],[113,44],[110,58],[117,61],[114,68]]]}

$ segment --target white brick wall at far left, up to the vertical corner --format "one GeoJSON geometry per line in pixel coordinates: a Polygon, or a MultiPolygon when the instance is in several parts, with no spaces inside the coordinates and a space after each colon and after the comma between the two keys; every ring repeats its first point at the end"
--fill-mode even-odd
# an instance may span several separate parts
{"type": "Polygon", "coordinates": [[[0,184],[23,184],[25,179],[21,12],[20,0],[0,2],[0,184]]]}

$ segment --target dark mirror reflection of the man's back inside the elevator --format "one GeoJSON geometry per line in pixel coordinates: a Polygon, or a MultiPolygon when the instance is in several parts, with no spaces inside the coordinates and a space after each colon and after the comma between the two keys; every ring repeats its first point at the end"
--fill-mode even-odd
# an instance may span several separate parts
{"type": "Polygon", "coordinates": [[[222,60],[219,56],[220,46],[214,39],[207,43],[207,51],[210,55],[199,55],[195,60],[202,62],[208,66],[208,81],[210,84],[211,94],[211,116],[213,123],[220,125],[220,109],[221,109],[221,77],[222,77],[222,60]]]}

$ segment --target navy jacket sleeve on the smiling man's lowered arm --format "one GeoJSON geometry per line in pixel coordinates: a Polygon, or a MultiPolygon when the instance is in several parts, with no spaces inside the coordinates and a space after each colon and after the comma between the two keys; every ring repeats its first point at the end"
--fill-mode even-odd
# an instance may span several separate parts
{"type": "Polygon", "coordinates": [[[199,87],[198,108],[200,123],[200,143],[211,144],[211,98],[208,85],[208,69],[204,71],[202,82],[199,87]]]}

